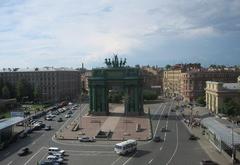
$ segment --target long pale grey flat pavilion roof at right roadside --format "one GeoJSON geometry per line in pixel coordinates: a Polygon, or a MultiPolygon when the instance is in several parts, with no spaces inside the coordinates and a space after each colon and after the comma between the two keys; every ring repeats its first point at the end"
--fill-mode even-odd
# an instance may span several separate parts
{"type": "MultiPolygon", "coordinates": [[[[232,147],[232,128],[217,121],[214,117],[202,119],[201,124],[213,132],[229,147],[232,147]]],[[[240,145],[240,135],[234,132],[234,145],[240,145]]]]}

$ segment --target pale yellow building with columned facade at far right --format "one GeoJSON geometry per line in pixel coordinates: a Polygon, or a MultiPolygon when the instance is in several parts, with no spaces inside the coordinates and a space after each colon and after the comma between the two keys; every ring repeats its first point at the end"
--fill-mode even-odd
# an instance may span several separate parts
{"type": "Polygon", "coordinates": [[[224,100],[231,98],[235,103],[240,103],[240,82],[206,82],[206,105],[209,110],[219,113],[224,100]]]}

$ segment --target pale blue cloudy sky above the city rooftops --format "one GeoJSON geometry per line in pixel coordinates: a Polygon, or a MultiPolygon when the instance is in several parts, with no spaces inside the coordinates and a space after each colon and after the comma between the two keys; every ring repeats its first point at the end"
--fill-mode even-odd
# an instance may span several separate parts
{"type": "Polygon", "coordinates": [[[240,0],[0,0],[0,68],[240,64],[240,0]]]}

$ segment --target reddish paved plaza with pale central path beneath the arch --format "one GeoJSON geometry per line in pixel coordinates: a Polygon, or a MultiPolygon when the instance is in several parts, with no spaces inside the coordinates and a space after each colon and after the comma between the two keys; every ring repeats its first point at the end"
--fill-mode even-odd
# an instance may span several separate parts
{"type": "Polygon", "coordinates": [[[151,139],[150,120],[147,114],[134,117],[124,116],[122,105],[111,105],[110,107],[109,116],[86,114],[77,117],[69,125],[59,130],[55,134],[56,138],[77,140],[82,136],[95,137],[99,131],[104,131],[109,132],[110,136],[98,140],[151,139]]]}

